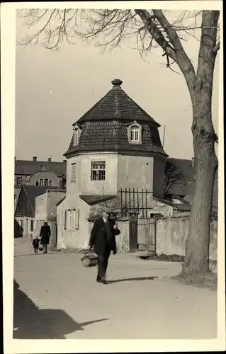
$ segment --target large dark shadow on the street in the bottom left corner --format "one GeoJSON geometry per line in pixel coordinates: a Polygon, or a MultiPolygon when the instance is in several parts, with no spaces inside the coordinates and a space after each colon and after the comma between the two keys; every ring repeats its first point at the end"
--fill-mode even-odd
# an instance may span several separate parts
{"type": "Polygon", "coordinates": [[[39,309],[19,289],[14,279],[13,289],[13,338],[15,339],[66,339],[74,331],[83,331],[84,326],[106,321],[98,319],[77,323],[61,309],[39,309]]]}

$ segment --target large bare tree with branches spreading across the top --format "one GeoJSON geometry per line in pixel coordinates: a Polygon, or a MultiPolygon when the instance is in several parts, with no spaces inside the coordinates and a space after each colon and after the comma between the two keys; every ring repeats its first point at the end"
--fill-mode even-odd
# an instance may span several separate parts
{"type": "MultiPolygon", "coordinates": [[[[191,130],[195,157],[196,189],[191,209],[186,257],[181,275],[209,271],[210,211],[217,169],[215,130],[212,121],[213,72],[220,41],[217,38],[220,11],[115,9],[25,9],[19,15],[34,29],[24,44],[41,42],[47,49],[59,49],[63,40],[82,38],[113,49],[135,38],[142,58],[157,47],[166,58],[166,68],[177,66],[191,97],[191,130]],[[173,16],[174,15],[174,16],[173,16]],[[195,70],[183,47],[187,35],[200,30],[198,67],[195,70]]],[[[31,31],[31,29],[30,29],[31,31]]]]}

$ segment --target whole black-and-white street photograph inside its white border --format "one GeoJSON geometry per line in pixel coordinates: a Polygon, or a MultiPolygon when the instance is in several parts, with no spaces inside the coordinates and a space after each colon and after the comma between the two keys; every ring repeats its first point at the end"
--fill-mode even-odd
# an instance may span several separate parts
{"type": "Polygon", "coordinates": [[[220,11],[111,7],[16,10],[13,338],[214,339],[220,11]]]}

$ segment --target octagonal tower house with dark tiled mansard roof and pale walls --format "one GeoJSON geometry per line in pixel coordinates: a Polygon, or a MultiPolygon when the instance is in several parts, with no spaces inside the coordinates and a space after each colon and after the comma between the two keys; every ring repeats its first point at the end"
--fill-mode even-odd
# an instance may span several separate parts
{"type": "Polygon", "coordinates": [[[118,200],[120,189],[164,197],[167,158],[160,125],[121,89],[122,81],[73,125],[67,158],[66,198],[57,206],[58,248],[86,246],[91,205],[118,200]]]}

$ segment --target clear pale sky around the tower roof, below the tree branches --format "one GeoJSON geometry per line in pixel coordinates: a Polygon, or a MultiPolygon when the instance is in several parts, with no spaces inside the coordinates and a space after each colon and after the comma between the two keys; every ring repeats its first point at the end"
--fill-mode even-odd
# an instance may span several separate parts
{"type": "MultiPolygon", "coordinates": [[[[17,22],[17,39],[28,29],[17,22]]],[[[60,51],[39,45],[16,45],[16,159],[62,161],[72,137],[72,124],[79,120],[111,88],[113,79],[154,118],[161,127],[164,150],[171,157],[191,159],[191,99],[183,76],[166,69],[162,52],[153,50],[141,59],[129,43],[112,52],[66,42],[60,51]]],[[[190,37],[186,51],[196,67],[199,42],[190,37]]],[[[175,67],[179,72],[179,69],[175,67]]],[[[213,124],[217,132],[219,55],[213,86],[213,124]]]]}

